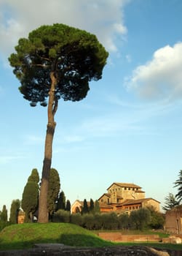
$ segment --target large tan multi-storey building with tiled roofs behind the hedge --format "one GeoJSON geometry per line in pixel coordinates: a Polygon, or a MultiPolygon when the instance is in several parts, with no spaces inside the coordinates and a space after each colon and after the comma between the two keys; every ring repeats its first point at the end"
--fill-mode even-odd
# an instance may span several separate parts
{"type": "Polygon", "coordinates": [[[159,211],[159,201],[151,197],[146,198],[140,186],[130,183],[114,182],[98,201],[101,212],[125,211],[130,213],[130,211],[149,206],[159,211]]]}

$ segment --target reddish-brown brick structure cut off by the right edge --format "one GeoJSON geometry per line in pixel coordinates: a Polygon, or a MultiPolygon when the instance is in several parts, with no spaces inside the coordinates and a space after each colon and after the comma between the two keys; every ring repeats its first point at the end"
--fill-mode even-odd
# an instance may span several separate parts
{"type": "Polygon", "coordinates": [[[182,205],[166,212],[165,230],[173,234],[182,234],[182,205]]]}

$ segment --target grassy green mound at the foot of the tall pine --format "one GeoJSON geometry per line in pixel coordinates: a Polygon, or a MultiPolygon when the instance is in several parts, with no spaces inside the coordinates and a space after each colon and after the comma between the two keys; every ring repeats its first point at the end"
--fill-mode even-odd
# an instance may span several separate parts
{"type": "Polygon", "coordinates": [[[94,233],[68,223],[24,223],[5,227],[0,233],[0,249],[31,248],[33,244],[60,243],[70,246],[111,246],[94,233]]]}

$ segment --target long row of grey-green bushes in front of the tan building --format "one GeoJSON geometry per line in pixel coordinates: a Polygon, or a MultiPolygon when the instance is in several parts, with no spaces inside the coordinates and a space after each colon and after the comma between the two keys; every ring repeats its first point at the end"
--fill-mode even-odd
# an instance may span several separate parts
{"type": "Polygon", "coordinates": [[[145,230],[163,228],[163,214],[153,208],[141,208],[130,215],[123,213],[70,214],[68,211],[56,211],[53,222],[70,222],[89,230],[145,230]]]}

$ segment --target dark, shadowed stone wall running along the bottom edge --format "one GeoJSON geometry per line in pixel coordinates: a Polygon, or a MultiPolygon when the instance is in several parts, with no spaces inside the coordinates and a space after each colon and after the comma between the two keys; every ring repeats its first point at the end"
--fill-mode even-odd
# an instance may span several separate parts
{"type": "MultiPolygon", "coordinates": [[[[180,252],[181,253],[181,252],[180,252]]],[[[159,251],[147,246],[113,246],[105,248],[69,247],[60,244],[39,244],[33,249],[0,251],[0,256],[180,256],[178,252],[159,251]]]]}

